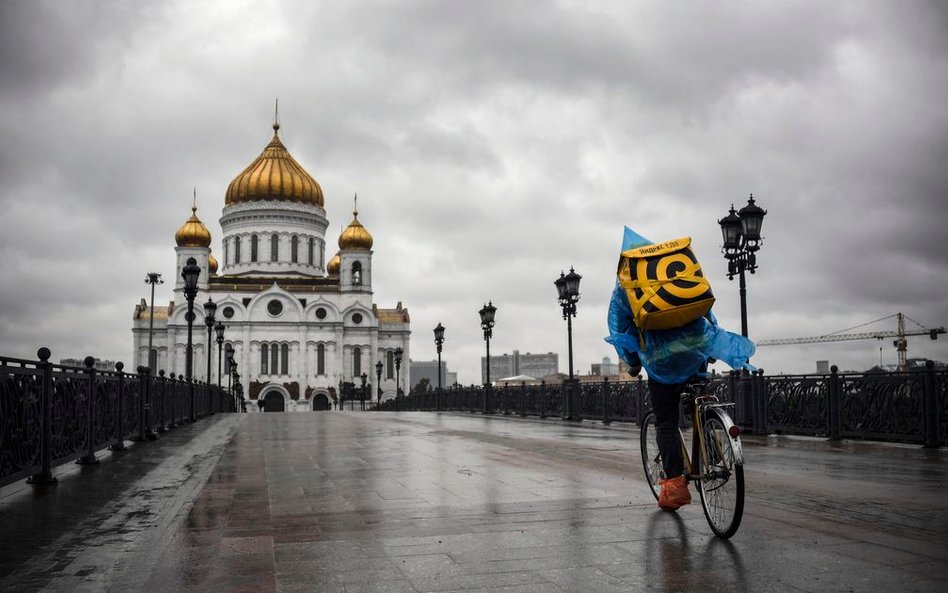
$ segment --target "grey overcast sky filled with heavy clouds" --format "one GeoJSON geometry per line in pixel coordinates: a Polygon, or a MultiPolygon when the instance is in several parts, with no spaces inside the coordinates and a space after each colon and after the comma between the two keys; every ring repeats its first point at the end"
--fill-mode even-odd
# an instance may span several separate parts
{"type": "MultiPolygon", "coordinates": [[[[334,248],[375,238],[375,300],[411,356],[479,381],[492,353],[604,356],[623,225],[689,235],[740,331],[717,220],[767,209],[752,339],[903,312],[948,324],[948,10],[941,2],[0,1],[0,355],[131,359],[146,272],[214,237],[227,184],[280,135],[334,248]]],[[[329,253],[328,256],[331,256],[329,253]]],[[[909,324],[909,327],[914,327],[909,324]]],[[[894,320],[866,328],[895,329],[894,320]]],[[[948,361],[948,339],[910,356],[948,361]]],[[[891,340],[762,347],[768,373],[895,363],[891,340]],[[880,350],[881,348],[881,350],[880,350]]]]}

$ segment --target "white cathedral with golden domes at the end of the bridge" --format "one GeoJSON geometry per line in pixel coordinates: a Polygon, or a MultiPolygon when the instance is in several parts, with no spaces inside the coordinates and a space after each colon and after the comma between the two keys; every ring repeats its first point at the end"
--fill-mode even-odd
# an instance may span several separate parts
{"type": "MultiPolygon", "coordinates": [[[[326,262],[322,188],[283,146],[279,128],[273,124],[273,139],[263,153],[227,188],[220,273],[211,234],[196,207],[178,229],[174,301],[150,310],[142,299],[135,307],[133,359],[140,366],[151,360],[156,373],[185,374],[188,306],[181,272],[193,257],[201,268],[192,329],[195,380],[208,380],[203,305],[211,299],[225,326],[224,348],[229,344],[235,351],[248,404],[264,401],[267,411],[329,409],[343,383],[361,387],[363,373],[371,384],[368,398],[375,401],[377,362],[382,363],[381,399],[394,397],[396,377],[407,392],[408,310],[401,302],[394,309],[372,302],[372,235],[354,210],[339,251],[326,262]],[[404,361],[398,372],[396,348],[404,361]]],[[[216,337],[210,346],[210,382],[216,384],[216,337]]],[[[226,370],[222,383],[227,386],[226,370]]]]}

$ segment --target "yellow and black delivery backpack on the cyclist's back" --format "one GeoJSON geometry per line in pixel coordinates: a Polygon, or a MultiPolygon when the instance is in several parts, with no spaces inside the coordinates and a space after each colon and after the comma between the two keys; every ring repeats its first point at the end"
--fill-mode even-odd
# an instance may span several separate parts
{"type": "Polygon", "coordinates": [[[617,274],[640,331],[681,327],[714,304],[691,237],[623,251],[617,274]]]}

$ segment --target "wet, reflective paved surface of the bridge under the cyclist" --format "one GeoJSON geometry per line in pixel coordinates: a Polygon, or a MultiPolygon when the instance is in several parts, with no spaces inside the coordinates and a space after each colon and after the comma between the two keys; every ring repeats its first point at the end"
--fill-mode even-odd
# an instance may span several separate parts
{"type": "MultiPolygon", "coordinates": [[[[104,526],[63,505],[55,538],[32,540],[20,568],[0,564],[0,588],[948,587],[944,452],[749,438],[747,513],[726,542],[711,535],[697,497],[678,513],[657,509],[637,436],[629,427],[473,414],[218,418],[177,453],[169,444],[176,471],[156,457],[144,477],[118,478],[100,494],[112,497],[107,515],[76,502],[74,514],[104,526]]],[[[3,499],[3,526],[17,521],[24,497],[3,499]]]]}

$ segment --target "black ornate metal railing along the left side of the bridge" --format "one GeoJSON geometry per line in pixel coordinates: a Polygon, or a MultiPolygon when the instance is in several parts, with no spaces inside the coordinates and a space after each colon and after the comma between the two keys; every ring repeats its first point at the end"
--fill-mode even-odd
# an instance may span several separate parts
{"type": "Polygon", "coordinates": [[[184,377],[153,376],[0,357],[0,486],[22,478],[55,481],[52,468],[76,460],[96,463],[96,452],[125,448],[125,441],[155,440],[183,422],[234,412],[234,399],[213,385],[184,377]]]}

